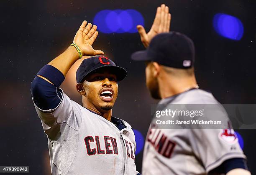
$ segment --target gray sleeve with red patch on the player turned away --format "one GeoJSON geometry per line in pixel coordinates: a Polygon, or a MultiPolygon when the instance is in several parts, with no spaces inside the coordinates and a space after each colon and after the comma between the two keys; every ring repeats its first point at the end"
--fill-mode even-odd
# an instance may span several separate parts
{"type": "Polygon", "coordinates": [[[188,133],[192,150],[207,173],[225,160],[246,158],[233,129],[194,129],[188,133]]]}

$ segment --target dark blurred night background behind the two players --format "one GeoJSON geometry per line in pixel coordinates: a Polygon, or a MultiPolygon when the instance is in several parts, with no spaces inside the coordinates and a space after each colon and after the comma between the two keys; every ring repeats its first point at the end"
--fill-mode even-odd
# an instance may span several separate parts
{"type": "MultiPolygon", "coordinates": [[[[168,5],[172,13],[171,30],[183,32],[195,42],[195,71],[200,88],[210,90],[222,104],[256,104],[253,0],[1,0],[1,166],[30,166],[30,174],[50,174],[47,138],[31,100],[30,85],[38,70],[72,43],[82,21],[92,22],[100,10],[135,9],[143,16],[148,31],[161,3],[168,5]],[[216,32],[212,21],[217,13],[241,20],[240,40],[216,32]]],[[[157,101],[146,90],[144,64],[130,59],[131,53],[144,49],[138,33],[100,32],[94,48],[103,50],[117,65],[127,69],[128,76],[119,83],[113,114],[128,121],[145,138],[151,105],[157,101]]],[[[82,104],[75,92],[75,71],[73,67],[61,87],[72,100],[82,104]]],[[[238,133],[243,138],[248,167],[256,174],[256,130],[238,133]]],[[[142,151],[136,155],[138,171],[141,161],[142,151]]]]}

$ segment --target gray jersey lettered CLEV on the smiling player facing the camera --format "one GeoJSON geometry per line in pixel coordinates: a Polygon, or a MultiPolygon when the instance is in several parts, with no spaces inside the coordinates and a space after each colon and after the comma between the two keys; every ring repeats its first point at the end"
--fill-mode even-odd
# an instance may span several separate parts
{"type": "Polygon", "coordinates": [[[137,174],[135,136],[127,122],[122,120],[127,127],[119,130],[63,91],[55,109],[35,107],[48,136],[53,175],[137,174]]]}

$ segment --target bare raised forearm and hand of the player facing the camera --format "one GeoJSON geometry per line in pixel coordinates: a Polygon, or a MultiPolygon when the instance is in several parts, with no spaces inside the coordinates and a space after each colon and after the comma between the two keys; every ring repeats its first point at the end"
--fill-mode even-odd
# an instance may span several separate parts
{"type": "MultiPolygon", "coordinates": [[[[74,36],[73,43],[79,47],[80,55],[76,47],[69,46],[67,50],[65,50],[61,55],[57,56],[48,63],[58,69],[64,76],[67,75],[70,67],[79,59],[79,56],[95,56],[95,55],[103,55],[104,52],[101,50],[94,50],[92,47],[93,42],[97,38],[98,31],[97,26],[91,23],[84,21],[74,36]]],[[[50,82],[45,77],[38,75],[38,77],[43,78],[44,80],[50,82]]],[[[51,82],[50,82],[51,83],[51,82]]],[[[53,83],[51,83],[53,84],[53,83]]]]}

